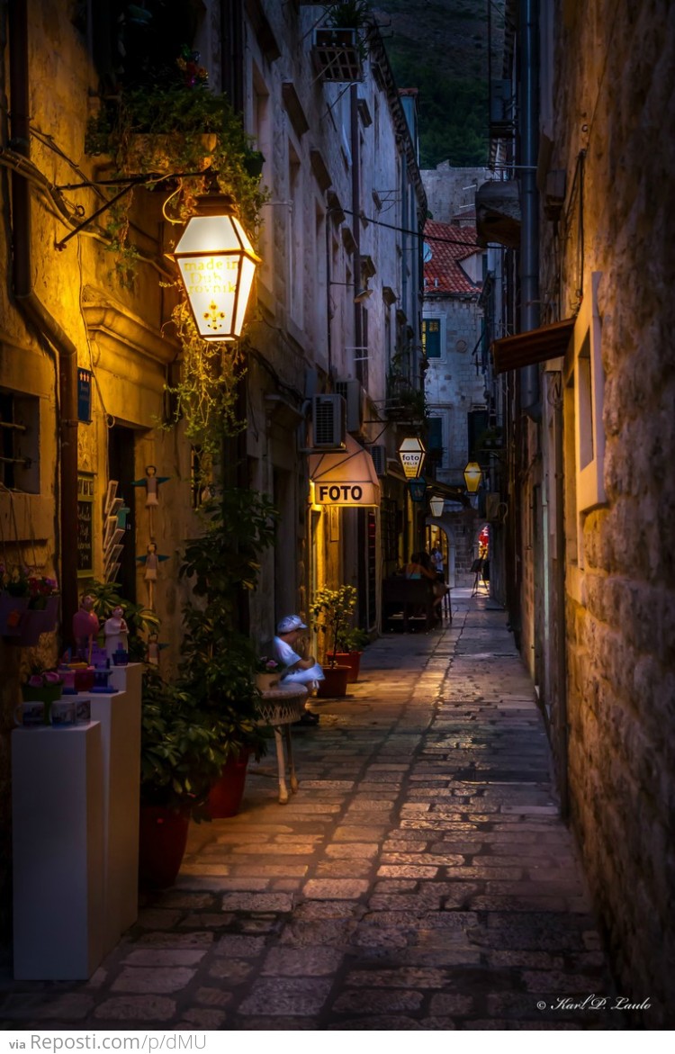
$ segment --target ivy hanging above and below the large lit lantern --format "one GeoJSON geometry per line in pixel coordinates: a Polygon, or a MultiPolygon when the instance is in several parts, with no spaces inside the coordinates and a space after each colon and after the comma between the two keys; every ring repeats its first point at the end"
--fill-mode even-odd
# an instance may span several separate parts
{"type": "MultiPolygon", "coordinates": [[[[266,199],[261,188],[262,155],[227,98],[209,90],[208,76],[184,52],[175,76],[144,86],[122,87],[103,100],[88,126],[86,153],[111,159],[115,176],[139,179],[128,195],[111,208],[107,233],[121,280],[129,284],[138,251],[129,239],[129,215],[134,189],[173,188],[165,201],[167,220],[182,223],[195,198],[207,189],[229,194],[255,245],[259,212],[266,199]]],[[[115,178],[115,176],[113,178],[115,178]]],[[[176,282],[176,286],[179,286],[176,282]]],[[[242,376],[242,341],[206,341],[198,335],[180,286],[180,302],[172,313],[180,343],[180,379],[167,386],[173,410],[168,427],[182,419],[188,438],[199,446],[208,466],[225,435],[236,434],[236,385],[242,376]]],[[[207,468],[208,471],[208,468],[207,468]]]]}

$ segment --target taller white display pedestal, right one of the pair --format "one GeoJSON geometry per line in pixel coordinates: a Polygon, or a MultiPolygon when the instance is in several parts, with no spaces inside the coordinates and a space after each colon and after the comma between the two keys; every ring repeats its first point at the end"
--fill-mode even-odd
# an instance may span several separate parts
{"type": "Polygon", "coordinates": [[[92,720],[101,726],[103,758],[105,954],[138,917],[141,667],[118,667],[114,674],[122,675],[118,683],[126,683],[127,691],[91,696],[92,720]]]}

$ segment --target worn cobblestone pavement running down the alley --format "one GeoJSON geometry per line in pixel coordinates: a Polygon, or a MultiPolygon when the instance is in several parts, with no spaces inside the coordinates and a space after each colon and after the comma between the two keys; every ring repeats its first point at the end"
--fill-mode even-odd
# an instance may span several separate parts
{"type": "Polygon", "coordinates": [[[89,982],[4,980],[4,1028],[631,1028],[506,617],[452,597],[451,627],[378,641],[293,730],[287,805],[272,752],[89,982]]]}

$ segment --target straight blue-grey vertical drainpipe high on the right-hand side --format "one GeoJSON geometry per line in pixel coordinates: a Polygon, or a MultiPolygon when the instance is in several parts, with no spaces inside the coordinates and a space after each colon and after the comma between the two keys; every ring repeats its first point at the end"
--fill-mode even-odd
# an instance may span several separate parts
{"type": "MultiPolygon", "coordinates": [[[[520,251],[520,330],[539,326],[539,193],[537,161],[539,154],[539,0],[520,0],[520,39],[522,54],[519,70],[520,180],[522,240],[520,251]]],[[[525,366],[521,373],[522,409],[533,421],[541,421],[539,367],[525,366]]]]}

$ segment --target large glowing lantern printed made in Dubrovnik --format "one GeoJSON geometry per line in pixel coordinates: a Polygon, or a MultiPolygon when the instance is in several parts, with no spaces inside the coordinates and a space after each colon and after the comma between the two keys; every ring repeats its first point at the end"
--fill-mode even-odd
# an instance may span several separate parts
{"type": "Polygon", "coordinates": [[[195,325],[205,340],[242,335],[255,268],[261,262],[227,194],[198,199],[178,245],[169,254],[180,277],[195,325]]]}

